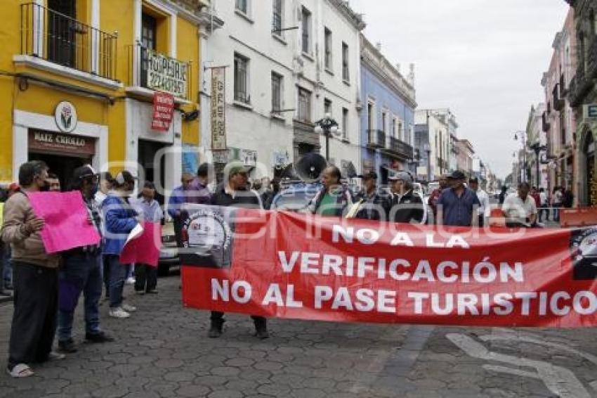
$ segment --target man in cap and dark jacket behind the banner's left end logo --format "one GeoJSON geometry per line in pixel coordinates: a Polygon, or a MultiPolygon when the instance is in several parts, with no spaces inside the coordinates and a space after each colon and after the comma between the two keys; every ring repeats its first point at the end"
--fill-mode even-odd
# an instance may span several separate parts
{"type": "MultiPolygon", "coordinates": [[[[245,209],[260,209],[261,199],[255,191],[247,189],[247,170],[243,165],[232,163],[224,170],[224,182],[211,196],[211,204],[223,207],[242,207],[245,209]]],[[[270,337],[268,323],[263,316],[251,316],[255,323],[255,335],[260,339],[270,337]]],[[[224,323],[223,312],[211,312],[210,338],[222,335],[224,323]]]]}

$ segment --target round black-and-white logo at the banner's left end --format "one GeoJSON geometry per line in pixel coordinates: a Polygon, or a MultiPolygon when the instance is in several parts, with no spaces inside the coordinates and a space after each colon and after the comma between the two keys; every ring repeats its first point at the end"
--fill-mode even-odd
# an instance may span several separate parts
{"type": "Polygon", "coordinates": [[[232,267],[231,214],[227,207],[199,208],[183,225],[183,250],[181,257],[207,268],[232,267]]]}

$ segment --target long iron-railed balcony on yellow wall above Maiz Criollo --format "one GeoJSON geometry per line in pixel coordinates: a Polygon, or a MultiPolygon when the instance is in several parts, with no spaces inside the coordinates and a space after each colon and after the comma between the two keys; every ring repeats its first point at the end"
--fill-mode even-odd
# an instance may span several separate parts
{"type": "Polygon", "coordinates": [[[21,4],[20,32],[16,63],[79,79],[117,82],[117,34],[35,3],[21,4]]]}

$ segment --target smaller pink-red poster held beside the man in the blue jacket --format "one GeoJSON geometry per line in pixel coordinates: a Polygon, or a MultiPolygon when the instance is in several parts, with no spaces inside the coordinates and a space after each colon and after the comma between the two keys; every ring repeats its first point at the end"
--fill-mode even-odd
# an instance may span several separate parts
{"type": "Polygon", "coordinates": [[[126,242],[120,262],[122,264],[147,264],[157,267],[159,249],[162,248],[162,224],[144,222],[143,232],[126,242]]]}

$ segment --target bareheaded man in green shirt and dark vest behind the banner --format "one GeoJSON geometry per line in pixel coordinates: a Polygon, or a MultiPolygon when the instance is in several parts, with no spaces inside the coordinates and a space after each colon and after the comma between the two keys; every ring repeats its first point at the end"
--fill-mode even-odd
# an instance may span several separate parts
{"type": "Polygon", "coordinates": [[[308,205],[313,214],[327,217],[342,217],[353,204],[352,195],[341,183],[342,174],[336,166],[326,167],[321,176],[323,188],[315,194],[308,205]]]}

